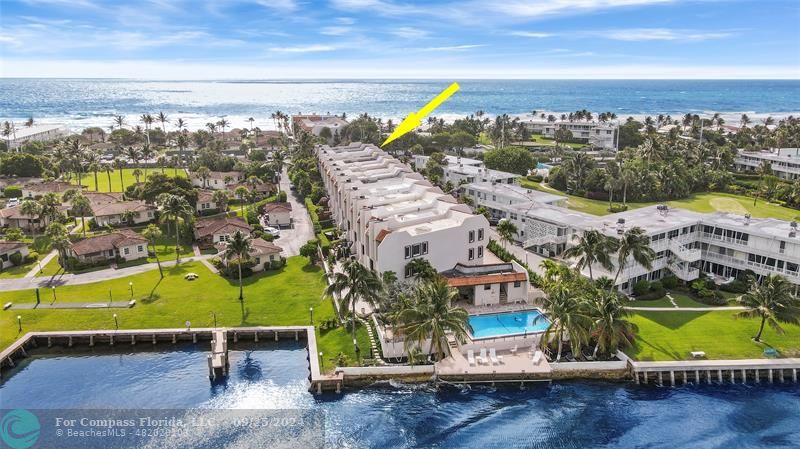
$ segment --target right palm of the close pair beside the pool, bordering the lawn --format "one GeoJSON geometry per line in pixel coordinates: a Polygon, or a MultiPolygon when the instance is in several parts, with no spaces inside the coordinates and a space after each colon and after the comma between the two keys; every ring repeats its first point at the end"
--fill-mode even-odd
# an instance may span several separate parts
{"type": "Polygon", "coordinates": [[[592,317],[592,336],[597,339],[592,357],[597,352],[613,353],[620,346],[633,344],[637,326],[627,318],[630,313],[623,306],[621,297],[616,292],[598,290],[589,302],[589,315],[592,317]]]}

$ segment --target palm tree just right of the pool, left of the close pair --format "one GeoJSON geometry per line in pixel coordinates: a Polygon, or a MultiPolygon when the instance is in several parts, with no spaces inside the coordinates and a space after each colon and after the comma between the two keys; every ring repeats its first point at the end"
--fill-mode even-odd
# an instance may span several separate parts
{"type": "Polygon", "coordinates": [[[584,302],[574,295],[566,284],[553,286],[542,303],[550,325],[542,334],[541,345],[546,347],[553,338],[558,340],[556,362],[561,361],[565,337],[569,337],[573,354],[580,352],[581,343],[586,341],[591,320],[585,312],[584,302]]]}

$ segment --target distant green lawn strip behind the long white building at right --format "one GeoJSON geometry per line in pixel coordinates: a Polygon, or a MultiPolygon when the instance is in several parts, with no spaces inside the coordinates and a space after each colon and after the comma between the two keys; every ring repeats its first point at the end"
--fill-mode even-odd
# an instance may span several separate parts
{"type": "MultiPolygon", "coordinates": [[[[553,193],[555,195],[565,196],[567,197],[567,207],[573,210],[586,212],[592,215],[609,214],[607,201],[591,200],[580,196],[569,195],[545,184],[528,181],[526,179],[521,179],[520,185],[528,189],[536,189],[543,192],[553,193]]],[[[641,203],[628,202],[628,209],[638,209],[640,207],[652,206],[654,204],[660,203],[657,201],[641,203]]],[[[739,215],[750,213],[753,215],[753,217],[760,218],[778,218],[781,220],[800,219],[800,210],[790,209],[788,207],[783,207],[764,201],[758,201],[756,206],[753,206],[752,198],[742,195],[734,195],[731,193],[697,193],[687,199],[667,201],[666,204],[670,207],[680,207],[682,209],[688,209],[695,212],[733,212],[739,215]]]]}

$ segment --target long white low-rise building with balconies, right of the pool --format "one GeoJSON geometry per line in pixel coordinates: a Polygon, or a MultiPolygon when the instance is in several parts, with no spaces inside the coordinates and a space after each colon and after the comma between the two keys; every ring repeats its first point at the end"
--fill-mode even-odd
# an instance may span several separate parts
{"type": "MultiPolygon", "coordinates": [[[[620,238],[632,227],[642,228],[656,253],[651,269],[633,259],[628,260],[619,276],[617,266],[611,271],[592,266],[595,278],[616,277],[617,287],[624,292],[630,292],[640,280],[652,281],[669,274],[692,281],[700,271],[722,282],[750,270],[758,277],[777,273],[800,284],[800,239],[795,222],[730,213],[703,214],[667,206],[598,217],[560,207],[556,199],[540,197],[537,201],[537,196],[549,195],[543,192],[531,192],[532,196],[526,198],[509,194],[490,200],[486,194],[477,195],[474,185],[464,189],[468,195],[470,190],[476,192],[470,195],[476,205],[493,207],[514,222],[523,247],[547,257],[561,257],[585,230],[595,229],[620,238]],[[518,202],[514,202],[515,198],[518,202]]],[[[588,268],[584,274],[589,274],[588,268]]]]}

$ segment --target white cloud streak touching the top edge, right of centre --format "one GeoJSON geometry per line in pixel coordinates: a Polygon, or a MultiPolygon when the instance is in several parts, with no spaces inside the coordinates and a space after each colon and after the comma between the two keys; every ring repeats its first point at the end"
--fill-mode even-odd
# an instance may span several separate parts
{"type": "Polygon", "coordinates": [[[672,3],[673,0],[510,0],[492,4],[495,11],[515,17],[541,17],[557,14],[574,14],[595,10],[672,3]]]}

